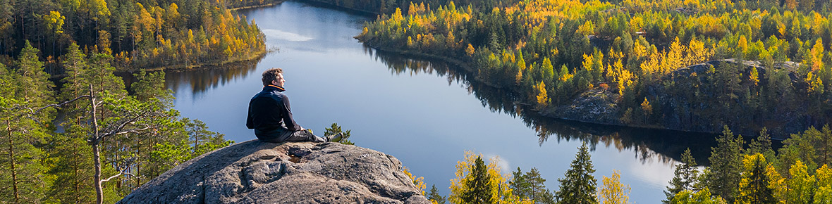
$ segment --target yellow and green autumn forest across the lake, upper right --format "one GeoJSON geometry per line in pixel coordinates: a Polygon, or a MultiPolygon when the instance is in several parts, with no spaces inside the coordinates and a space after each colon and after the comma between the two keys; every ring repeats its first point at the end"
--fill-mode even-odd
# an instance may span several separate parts
{"type": "Polygon", "coordinates": [[[440,3],[405,4],[356,38],[456,63],[556,118],[603,98],[607,124],[785,138],[832,122],[829,2],[440,3]]]}

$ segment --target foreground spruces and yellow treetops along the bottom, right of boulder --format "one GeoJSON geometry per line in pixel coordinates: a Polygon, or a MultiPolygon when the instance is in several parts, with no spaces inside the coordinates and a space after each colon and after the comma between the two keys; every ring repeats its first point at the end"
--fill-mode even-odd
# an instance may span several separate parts
{"type": "MultiPolygon", "coordinates": [[[[765,132],[745,143],[724,127],[711,147],[710,166],[699,168],[688,148],[676,164],[663,203],[829,203],[832,202],[832,129],[810,128],[793,134],[775,151],[765,132]]],[[[592,144],[589,144],[592,145],[592,144]]],[[[630,187],[613,170],[601,183],[593,175],[585,141],[562,178],[550,191],[537,168],[503,174],[499,158],[488,164],[479,153],[466,152],[457,163],[451,193],[443,197],[435,185],[425,194],[433,203],[630,203],[630,187]]],[[[413,177],[411,175],[411,177],[413,177]]],[[[415,178],[417,187],[426,188],[415,178]]]]}

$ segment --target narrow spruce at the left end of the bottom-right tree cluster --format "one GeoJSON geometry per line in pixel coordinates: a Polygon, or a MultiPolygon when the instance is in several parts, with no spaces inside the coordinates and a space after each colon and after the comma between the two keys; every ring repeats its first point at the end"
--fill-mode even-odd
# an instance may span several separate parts
{"type": "Polygon", "coordinates": [[[670,203],[677,193],[682,191],[693,191],[695,182],[699,177],[699,170],[696,169],[696,160],[691,156],[691,148],[687,148],[685,153],[681,154],[681,163],[676,164],[675,175],[671,181],[670,186],[666,187],[666,200],[661,201],[670,203]]]}

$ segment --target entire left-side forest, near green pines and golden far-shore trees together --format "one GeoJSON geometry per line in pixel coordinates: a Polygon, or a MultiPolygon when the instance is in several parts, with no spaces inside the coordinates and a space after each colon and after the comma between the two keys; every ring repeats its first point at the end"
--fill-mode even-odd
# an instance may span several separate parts
{"type": "Polygon", "coordinates": [[[145,70],[265,55],[231,9],[274,2],[0,0],[0,202],[114,203],[233,143],[182,117],[165,73],[145,70]]]}

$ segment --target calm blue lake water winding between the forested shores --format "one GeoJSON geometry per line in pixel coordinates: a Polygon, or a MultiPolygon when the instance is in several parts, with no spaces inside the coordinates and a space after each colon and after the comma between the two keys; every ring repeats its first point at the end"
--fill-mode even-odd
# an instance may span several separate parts
{"type": "Polygon", "coordinates": [[[631,202],[658,203],[679,154],[691,148],[706,163],[713,144],[712,135],[541,117],[455,67],[364,47],[353,36],[370,17],[302,2],[240,13],[279,51],[249,65],[167,74],[182,115],[237,142],[255,138],[245,116],[250,97],[262,88],[260,73],[280,67],[299,124],[316,134],[332,123],[351,129],[357,145],[399,158],[444,196],[467,150],[501,158],[503,173],[537,168],[555,191],[586,141],[599,185],[617,169],[632,188],[631,202]]]}

